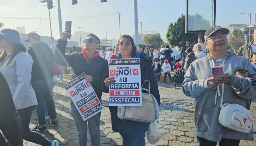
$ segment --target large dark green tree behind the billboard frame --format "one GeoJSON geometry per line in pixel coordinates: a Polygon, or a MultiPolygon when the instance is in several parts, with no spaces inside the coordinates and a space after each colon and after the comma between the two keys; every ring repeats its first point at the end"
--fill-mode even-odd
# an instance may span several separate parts
{"type": "MultiPolygon", "coordinates": [[[[200,15],[196,15],[199,17],[200,15]]],[[[202,16],[200,16],[202,17],[202,16]]],[[[198,20],[199,18],[197,18],[198,20]]],[[[202,33],[202,37],[204,33],[202,33]]],[[[170,45],[179,45],[182,47],[185,45],[186,41],[189,41],[190,44],[197,43],[198,33],[187,33],[185,34],[185,15],[181,15],[178,20],[174,23],[170,23],[168,31],[166,33],[166,39],[170,45]]],[[[202,40],[204,40],[202,38],[202,40]]]]}

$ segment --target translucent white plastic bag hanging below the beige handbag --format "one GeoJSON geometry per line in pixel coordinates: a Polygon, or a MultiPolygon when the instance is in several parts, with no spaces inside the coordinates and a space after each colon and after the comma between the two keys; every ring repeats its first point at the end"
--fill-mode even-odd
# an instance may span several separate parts
{"type": "Polygon", "coordinates": [[[155,144],[160,140],[160,133],[156,121],[151,122],[148,126],[147,140],[150,144],[155,144]]]}

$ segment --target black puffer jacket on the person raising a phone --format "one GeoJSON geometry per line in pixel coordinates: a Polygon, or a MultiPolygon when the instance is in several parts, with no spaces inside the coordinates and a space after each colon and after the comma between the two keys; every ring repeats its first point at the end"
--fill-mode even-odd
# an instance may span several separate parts
{"type": "Polygon", "coordinates": [[[107,61],[100,56],[97,56],[95,58],[91,58],[88,64],[82,53],[76,52],[71,55],[65,55],[67,42],[67,40],[62,41],[60,39],[57,41],[57,48],[54,52],[55,62],[61,66],[72,67],[73,78],[81,75],[83,72],[87,75],[93,76],[93,83],[91,83],[91,86],[93,86],[98,98],[101,99],[101,83],[104,81],[102,76],[108,68],[107,61]]]}

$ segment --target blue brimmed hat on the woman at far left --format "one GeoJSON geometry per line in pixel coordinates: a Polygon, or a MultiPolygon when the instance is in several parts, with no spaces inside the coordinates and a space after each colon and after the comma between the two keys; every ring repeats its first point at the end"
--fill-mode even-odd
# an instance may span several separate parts
{"type": "Polygon", "coordinates": [[[22,45],[25,48],[25,46],[20,42],[19,34],[10,29],[2,29],[0,31],[0,36],[7,39],[11,43],[22,45]]]}

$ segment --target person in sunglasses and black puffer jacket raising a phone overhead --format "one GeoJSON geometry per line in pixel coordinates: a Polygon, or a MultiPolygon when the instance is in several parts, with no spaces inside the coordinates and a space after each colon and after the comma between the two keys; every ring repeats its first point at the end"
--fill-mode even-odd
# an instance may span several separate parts
{"type": "MultiPolygon", "coordinates": [[[[93,33],[89,33],[87,38],[84,39],[84,49],[81,53],[73,53],[65,55],[67,39],[71,39],[69,30],[62,33],[61,39],[57,41],[57,48],[55,49],[54,59],[62,66],[73,68],[73,78],[86,73],[85,79],[90,82],[96,95],[101,101],[101,83],[103,82],[102,76],[108,67],[107,61],[100,57],[99,47],[100,39],[93,33]]],[[[89,129],[92,146],[100,146],[100,114],[101,112],[90,117],[84,121],[76,109],[73,101],[70,101],[71,116],[74,119],[76,127],[76,135],[79,146],[87,145],[87,128],[89,129]],[[88,126],[87,126],[88,122],[88,126]]]]}

